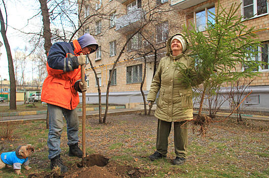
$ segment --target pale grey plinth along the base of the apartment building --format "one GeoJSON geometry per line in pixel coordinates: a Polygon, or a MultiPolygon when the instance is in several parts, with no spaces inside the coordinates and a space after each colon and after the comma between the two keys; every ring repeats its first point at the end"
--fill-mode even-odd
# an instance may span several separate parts
{"type": "MultiPolygon", "coordinates": [[[[249,97],[241,104],[242,110],[250,111],[266,111],[269,112],[269,86],[249,86],[244,92],[242,99],[252,91],[249,97]]],[[[225,98],[228,97],[230,90],[223,88],[220,94],[220,100],[225,101],[225,98]]],[[[144,91],[145,99],[147,97],[148,91],[144,91]]],[[[158,96],[157,96],[158,97],[158,96]]],[[[82,95],[79,95],[80,102],[82,102],[82,95]]],[[[126,107],[134,107],[134,105],[143,103],[143,97],[140,92],[111,92],[109,93],[109,104],[125,104],[126,107]]],[[[102,94],[102,103],[106,102],[105,93],[102,94]]],[[[194,107],[199,108],[199,104],[195,99],[193,99],[194,107]]],[[[98,103],[98,93],[86,94],[86,103],[87,104],[96,104],[98,103]]],[[[208,108],[208,101],[204,100],[203,108],[208,108]]],[[[230,101],[226,100],[221,109],[231,109],[230,101]]]]}

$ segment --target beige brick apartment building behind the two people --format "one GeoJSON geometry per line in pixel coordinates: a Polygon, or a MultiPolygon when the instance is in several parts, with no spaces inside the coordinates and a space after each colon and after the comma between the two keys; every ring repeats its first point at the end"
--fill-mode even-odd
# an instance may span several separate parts
{"type": "MultiPolygon", "coordinates": [[[[183,26],[190,26],[191,23],[199,31],[204,31],[207,21],[212,20],[210,12],[215,13],[217,3],[218,1],[213,0],[97,0],[87,1],[79,6],[85,19],[93,14],[102,14],[89,18],[91,20],[84,23],[81,32],[92,34],[100,46],[97,52],[91,54],[91,61],[97,72],[102,96],[106,94],[111,69],[118,58],[112,74],[109,102],[142,102],[140,85],[144,71],[145,81],[142,89],[147,93],[153,78],[154,64],[158,66],[160,58],[166,53],[167,38],[174,33],[182,32],[183,26]],[[133,34],[135,35],[126,44],[133,34]]],[[[245,24],[260,29],[256,35],[263,44],[258,47],[257,50],[261,53],[254,60],[268,62],[268,2],[220,0],[219,3],[226,8],[233,3],[241,4],[238,15],[252,17],[245,24]]],[[[89,63],[85,69],[88,78],[86,102],[97,103],[98,90],[94,72],[89,63]]],[[[251,83],[253,94],[248,104],[269,108],[268,102],[261,101],[261,98],[269,99],[268,65],[263,65],[258,71],[261,73],[251,83]]],[[[105,102],[104,98],[102,102],[105,102]]]]}

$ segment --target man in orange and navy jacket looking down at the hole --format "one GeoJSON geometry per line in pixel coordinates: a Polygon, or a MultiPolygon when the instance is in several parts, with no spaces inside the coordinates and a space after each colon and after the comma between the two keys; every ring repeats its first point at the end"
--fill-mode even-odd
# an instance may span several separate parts
{"type": "MultiPolygon", "coordinates": [[[[49,50],[47,57],[48,76],[42,87],[41,101],[48,104],[49,133],[48,149],[50,168],[60,167],[61,172],[68,168],[60,158],[63,115],[67,122],[69,156],[82,157],[78,147],[79,121],[76,106],[78,92],[87,90],[86,82],[81,81],[81,65],[85,65],[86,54],[97,50],[94,37],[84,34],[73,42],[57,42],[49,50]]],[[[85,77],[86,78],[86,77],[85,77]]]]}

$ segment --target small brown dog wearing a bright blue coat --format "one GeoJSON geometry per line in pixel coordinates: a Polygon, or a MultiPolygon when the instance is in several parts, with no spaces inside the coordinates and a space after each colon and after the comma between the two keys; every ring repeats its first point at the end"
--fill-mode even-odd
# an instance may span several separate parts
{"type": "Polygon", "coordinates": [[[23,146],[18,146],[15,152],[2,153],[0,159],[0,169],[4,167],[11,167],[9,165],[13,165],[13,169],[17,174],[21,174],[20,169],[22,164],[26,170],[31,169],[31,167],[28,166],[28,157],[33,152],[35,152],[34,147],[31,144],[26,144],[23,146]]]}

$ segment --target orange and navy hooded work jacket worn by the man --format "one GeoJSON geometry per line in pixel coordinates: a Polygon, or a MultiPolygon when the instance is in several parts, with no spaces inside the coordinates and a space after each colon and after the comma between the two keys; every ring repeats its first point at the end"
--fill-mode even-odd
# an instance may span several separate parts
{"type": "Polygon", "coordinates": [[[73,110],[79,103],[78,81],[81,80],[77,57],[81,52],[77,40],[71,43],[57,42],[48,52],[47,72],[41,101],[73,110]]]}

